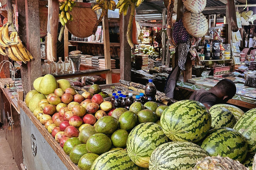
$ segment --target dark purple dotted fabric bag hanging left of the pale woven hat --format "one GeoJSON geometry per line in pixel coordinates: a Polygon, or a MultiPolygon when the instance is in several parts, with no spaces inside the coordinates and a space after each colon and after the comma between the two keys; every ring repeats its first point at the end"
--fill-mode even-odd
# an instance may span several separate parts
{"type": "Polygon", "coordinates": [[[176,43],[184,43],[188,41],[189,34],[186,31],[181,19],[179,22],[176,22],[174,24],[173,30],[172,30],[172,37],[176,43]]]}

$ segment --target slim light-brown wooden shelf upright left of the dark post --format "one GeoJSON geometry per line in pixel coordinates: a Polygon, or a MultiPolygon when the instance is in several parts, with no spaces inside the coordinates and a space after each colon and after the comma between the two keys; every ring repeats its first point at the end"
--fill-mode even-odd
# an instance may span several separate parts
{"type": "Polygon", "coordinates": [[[109,28],[108,17],[104,17],[102,20],[103,27],[103,39],[104,39],[104,55],[105,55],[105,68],[110,69],[106,73],[106,84],[112,83],[112,71],[111,71],[111,56],[110,56],[110,42],[109,42],[109,28]]]}

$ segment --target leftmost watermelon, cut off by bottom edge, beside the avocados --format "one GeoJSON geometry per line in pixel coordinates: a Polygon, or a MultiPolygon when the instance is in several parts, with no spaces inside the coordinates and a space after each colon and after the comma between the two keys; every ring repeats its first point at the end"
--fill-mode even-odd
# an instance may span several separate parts
{"type": "Polygon", "coordinates": [[[103,153],[92,164],[91,170],[139,170],[125,150],[103,153]]]}

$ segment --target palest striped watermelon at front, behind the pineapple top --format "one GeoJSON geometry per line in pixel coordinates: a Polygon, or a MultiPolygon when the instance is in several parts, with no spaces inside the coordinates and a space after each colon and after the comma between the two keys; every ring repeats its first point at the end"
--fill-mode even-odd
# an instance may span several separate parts
{"type": "Polygon", "coordinates": [[[200,146],[184,141],[158,146],[149,160],[149,170],[193,170],[197,161],[209,156],[200,146]]]}

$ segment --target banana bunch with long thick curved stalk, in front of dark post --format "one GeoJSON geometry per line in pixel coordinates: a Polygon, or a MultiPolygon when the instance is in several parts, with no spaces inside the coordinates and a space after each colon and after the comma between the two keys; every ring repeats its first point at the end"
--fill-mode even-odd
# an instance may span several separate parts
{"type": "Polygon", "coordinates": [[[124,16],[127,15],[128,9],[129,9],[129,7],[131,7],[131,14],[130,14],[130,18],[129,18],[129,24],[128,24],[126,37],[127,37],[127,41],[129,43],[129,45],[132,48],[134,48],[134,44],[132,43],[132,39],[131,39],[131,30],[132,30],[132,22],[133,22],[134,15],[135,15],[135,8],[139,7],[143,1],[144,0],[119,0],[116,5],[116,8],[119,9],[119,14],[123,13],[124,16]]]}

